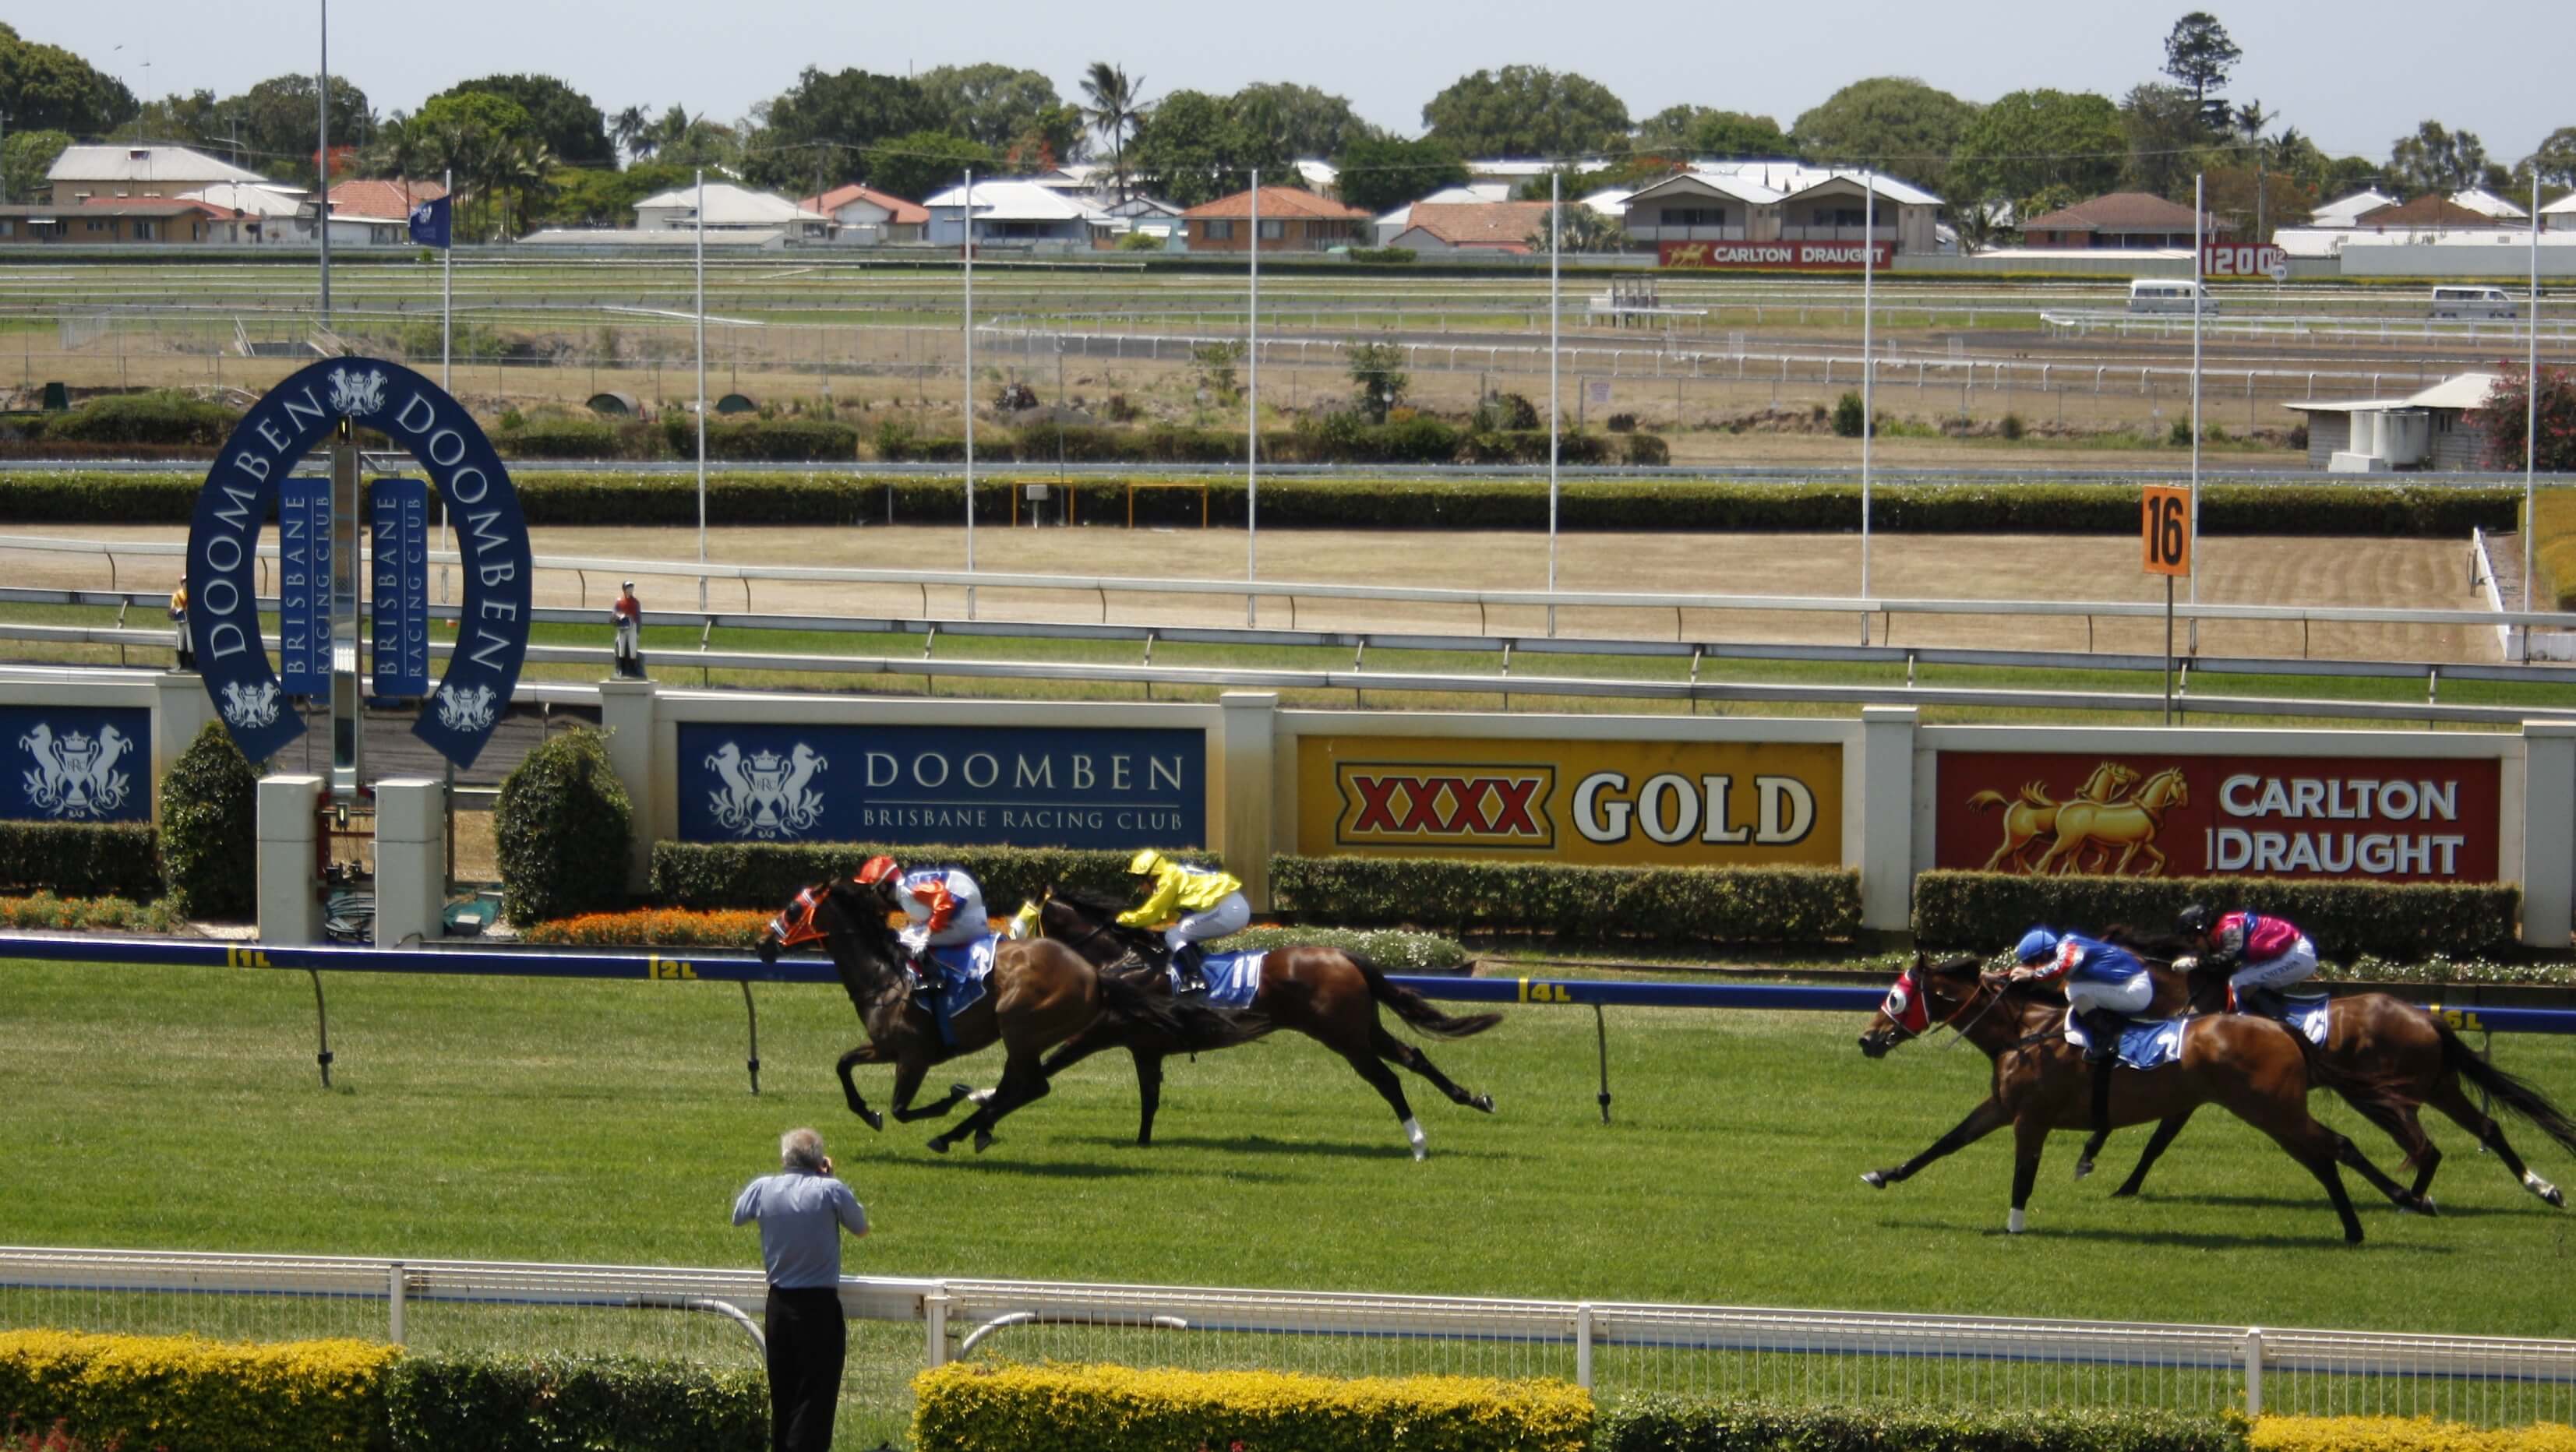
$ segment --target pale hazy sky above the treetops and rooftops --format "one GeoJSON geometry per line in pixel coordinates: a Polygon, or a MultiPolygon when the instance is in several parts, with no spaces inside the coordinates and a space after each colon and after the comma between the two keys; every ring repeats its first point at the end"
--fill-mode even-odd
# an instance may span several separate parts
{"type": "MultiPolygon", "coordinates": [[[[2053,85],[2120,98],[2156,80],[2164,33],[2195,0],[1953,0],[1870,5],[1569,8],[1546,0],[1391,0],[1257,8],[1208,0],[1064,5],[966,0],[340,0],[332,72],[379,113],[410,111],[456,80],[549,72],[603,111],[672,100],[737,118],[806,64],[902,75],[1005,62],[1041,70],[1066,100],[1092,59],[1144,75],[1146,98],[1291,80],[1347,95],[1370,121],[1422,129],[1450,80],[1512,62],[1600,80],[1631,116],[1698,103],[1790,126],[1839,85],[1914,75],[1971,100],[2053,85]]],[[[2197,0],[2208,3],[2208,0],[2197,0]]],[[[2476,131],[2512,165],[2576,126],[2576,18],[2566,0],[2221,0],[2244,46],[2228,85],[2329,154],[2383,160],[2421,118],[2476,131]]],[[[137,95],[312,70],[319,0],[118,0],[18,15],[23,36],[70,46],[137,95]],[[113,49],[124,46],[124,49],[113,49]]]]}

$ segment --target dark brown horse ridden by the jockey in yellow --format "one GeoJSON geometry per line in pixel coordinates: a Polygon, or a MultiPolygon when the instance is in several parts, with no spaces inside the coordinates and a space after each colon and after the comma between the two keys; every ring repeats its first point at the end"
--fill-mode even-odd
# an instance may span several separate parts
{"type": "MultiPolygon", "coordinates": [[[[1061,940],[1105,973],[1118,963],[1133,963],[1128,971],[1131,981],[1167,983],[1162,973],[1162,937],[1118,927],[1118,904],[1066,888],[1046,888],[1038,904],[1038,932],[1061,940]]],[[[1386,1022],[1378,1019],[1378,1004],[1394,1009],[1414,1030],[1440,1038],[1468,1038],[1502,1022],[1502,1014],[1450,1017],[1435,1009],[1422,994],[1386,981],[1386,973],[1376,965],[1340,947],[1278,947],[1262,955],[1262,981],[1244,1009],[1249,1014],[1247,1030],[1229,1043],[1252,1043],[1273,1027],[1283,1027],[1340,1053],[1370,1089],[1386,1097],[1396,1120],[1404,1122],[1404,1138],[1412,1140],[1414,1159],[1427,1159],[1430,1146],[1422,1135],[1422,1122],[1414,1120],[1412,1104],[1404,1102],[1404,1084],[1388,1063],[1412,1068],[1448,1094],[1450,1102],[1468,1110],[1492,1115],[1494,1097],[1468,1094],[1448,1074],[1440,1074],[1440,1066],[1427,1053],[1386,1032],[1386,1022]]],[[[1229,1043],[1216,1043],[1213,1048],[1226,1048],[1229,1043]]],[[[1185,1043],[1139,1019],[1103,1017],[1051,1053],[1041,1068],[1054,1076],[1103,1048],[1123,1048],[1136,1058],[1136,1097],[1141,1102],[1136,1143],[1154,1143],[1154,1110],[1162,1104],[1162,1061],[1172,1053],[1208,1045],[1185,1043]]]]}

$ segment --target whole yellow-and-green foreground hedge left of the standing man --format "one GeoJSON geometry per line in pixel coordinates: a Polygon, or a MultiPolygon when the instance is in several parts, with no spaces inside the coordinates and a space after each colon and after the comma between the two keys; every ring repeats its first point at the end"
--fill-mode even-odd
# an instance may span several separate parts
{"type": "Polygon", "coordinates": [[[760,1372],[551,1354],[407,1357],[376,1341],[0,1331],[0,1429],[90,1447],[265,1452],[757,1452],[760,1372]]]}

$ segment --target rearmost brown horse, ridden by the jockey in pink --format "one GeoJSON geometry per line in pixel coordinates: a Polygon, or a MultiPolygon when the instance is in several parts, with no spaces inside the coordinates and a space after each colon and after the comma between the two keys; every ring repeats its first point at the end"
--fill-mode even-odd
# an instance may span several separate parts
{"type": "MultiPolygon", "coordinates": [[[[2148,973],[2156,978],[2156,1001],[2190,1004],[2195,1014],[2223,1014],[2228,1012],[2228,973],[2218,965],[2192,963],[2190,968],[2166,968],[2159,960],[2141,958],[2148,973]]],[[[2190,963],[2187,958],[2179,963],[2190,963]]],[[[2463,1079],[2483,1089],[2494,1102],[2522,1115],[2540,1128],[2548,1138],[2558,1140],[2561,1148],[2576,1153],[2576,1120],[2550,1104],[2550,1099],[2524,1079],[2517,1079],[2470,1050],[2458,1032],[2450,1030],[2439,1017],[2398,999],[2393,994],[2339,994],[2326,1004],[2326,1043],[2318,1045],[2318,1056],[2334,1063],[2339,1079],[2334,1084],[2336,1094],[2344,1097],[2365,1120],[2388,1130],[2388,1138],[2398,1143],[2406,1153],[2406,1166],[2414,1169],[2414,1192],[2424,1195],[2429,1202],[2432,1174],[2442,1166],[2442,1151],[2424,1133],[2424,1122],[2416,1117],[2419,1110],[2442,1110],[2455,1125],[2468,1130],[2481,1146],[2504,1161],[2504,1169],[2522,1182],[2524,1189],[2537,1195],[2553,1207],[2566,1207],[2566,1195],[2548,1179],[2532,1174],[2514,1146],[2504,1140],[2504,1128],[2478,1110],[2463,1079]]],[[[2192,1122],[2192,1112],[2182,1110],[2169,1115],[2156,1125],[2154,1138],[2146,1140],[2146,1153],[2138,1156],[2138,1169],[2128,1171],[2117,1197],[2138,1195],[2146,1184],[2146,1171],[2154,1169],[2156,1159],[2174,1143],[2182,1125],[2192,1122]]],[[[2102,1140],[2107,1135],[2094,1133],[2084,1143],[2081,1159],[2076,1159],[2076,1179],[2092,1171],[2094,1156],[2102,1153],[2102,1140]]],[[[2403,1169],[2403,1166],[2401,1166],[2403,1169]]]]}

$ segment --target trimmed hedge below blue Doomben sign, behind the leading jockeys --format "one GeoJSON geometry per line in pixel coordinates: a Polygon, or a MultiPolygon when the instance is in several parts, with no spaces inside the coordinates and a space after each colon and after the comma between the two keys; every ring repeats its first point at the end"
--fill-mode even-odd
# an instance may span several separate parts
{"type": "MultiPolygon", "coordinates": [[[[786,906],[801,888],[824,878],[855,873],[860,862],[884,852],[904,868],[943,862],[966,868],[984,888],[984,909],[1002,919],[1018,911],[1023,898],[1059,888],[1082,888],[1108,896],[1133,896],[1136,880],[1126,875],[1133,852],[1097,852],[1077,847],[894,847],[884,842],[654,842],[652,844],[652,896],[662,906],[729,909],[786,906]]],[[[1216,852],[1172,852],[1200,865],[1224,865],[1216,852]]]]}

